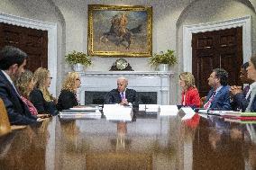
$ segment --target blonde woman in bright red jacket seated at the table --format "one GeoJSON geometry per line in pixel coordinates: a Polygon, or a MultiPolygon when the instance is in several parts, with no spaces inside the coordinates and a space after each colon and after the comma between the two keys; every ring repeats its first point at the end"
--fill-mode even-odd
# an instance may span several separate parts
{"type": "Polygon", "coordinates": [[[192,108],[200,107],[200,96],[195,85],[195,77],[189,72],[181,73],[179,85],[182,87],[181,104],[192,108]]]}

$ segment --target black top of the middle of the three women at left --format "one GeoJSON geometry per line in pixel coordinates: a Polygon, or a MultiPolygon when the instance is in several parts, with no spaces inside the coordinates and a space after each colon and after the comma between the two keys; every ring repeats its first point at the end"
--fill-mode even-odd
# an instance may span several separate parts
{"type": "Polygon", "coordinates": [[[34,88],[29,98],[39,113],[50,113],[53,116],[59,113],[55,103],[44,100],[40,89],[34,88]]]}

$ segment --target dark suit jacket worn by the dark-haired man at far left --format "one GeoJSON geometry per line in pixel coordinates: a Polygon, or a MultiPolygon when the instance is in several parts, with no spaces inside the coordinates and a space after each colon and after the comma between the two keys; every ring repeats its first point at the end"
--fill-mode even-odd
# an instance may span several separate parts
{"type": "Polygon", "coordinates": [[[23,103],[20,96],[15,92],[13,85],[11,85],[2,71],[0,71],[0,97],[5,103],[11,124],[23,125],[37,123],[37,118],[32,116],[28,106],[23,103]]]}

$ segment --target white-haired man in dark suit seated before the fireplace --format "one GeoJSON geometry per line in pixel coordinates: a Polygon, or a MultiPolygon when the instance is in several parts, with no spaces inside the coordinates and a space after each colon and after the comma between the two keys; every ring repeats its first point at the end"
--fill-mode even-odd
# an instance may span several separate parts
{"type": "Polygon", "coordinates": [[[111,90],[105,96],[105,104],[119,103],[121,105],[132,105],[138,107],[136,91],[126,88],[128,80],[125,77],[117,79],[117,88],[111,90]]]}

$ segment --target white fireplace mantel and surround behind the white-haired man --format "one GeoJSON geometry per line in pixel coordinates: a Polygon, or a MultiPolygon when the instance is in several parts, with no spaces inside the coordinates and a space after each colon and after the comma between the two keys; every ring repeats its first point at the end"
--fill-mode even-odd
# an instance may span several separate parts
{"type": "Polygon", "coordinates": [[[124,76],[128,79],[128,88],[137,92],[157,92],[158,104],[170,103],[170,80],[172,72],[157,71],[87,71],[79,73],[81,87],[78,90],[78,99],[85,104],[85,91],[109,92],[116,88],[116,79],[124,76]]]}

